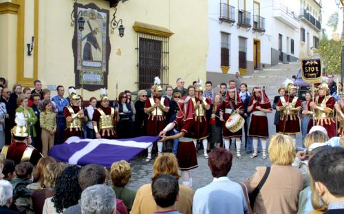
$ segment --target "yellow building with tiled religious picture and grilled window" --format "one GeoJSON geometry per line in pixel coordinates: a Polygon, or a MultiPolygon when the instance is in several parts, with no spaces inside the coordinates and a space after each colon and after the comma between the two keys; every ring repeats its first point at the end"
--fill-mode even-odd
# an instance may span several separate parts
{"type": "Polygon", "coordinates": [[[155,76],[162,86],[206,79],[208,0],[2,0],[0,29],[9,87],[39,79],[52,92],[75,85],[85,99],[106,87],[115,99],[155,76]]]}

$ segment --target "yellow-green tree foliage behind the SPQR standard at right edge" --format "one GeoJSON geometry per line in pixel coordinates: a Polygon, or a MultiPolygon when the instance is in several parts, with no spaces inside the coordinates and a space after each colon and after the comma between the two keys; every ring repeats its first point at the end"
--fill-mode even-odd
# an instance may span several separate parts
{"type": "Polygon", "coordinates": [[[327,40],[319,41],[319,54],[325,61],[326,73],[341,74],[341,47],[344,41],[327,40]]]}

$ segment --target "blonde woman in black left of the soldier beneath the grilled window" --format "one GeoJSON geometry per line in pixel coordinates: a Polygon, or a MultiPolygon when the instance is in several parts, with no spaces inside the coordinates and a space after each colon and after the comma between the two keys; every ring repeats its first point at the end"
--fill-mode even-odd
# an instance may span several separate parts
{"type": "Polygon", "coordinates": [[[144,113],[144,103],[147,100],[147,92],[145,90],[138,91],[138,100],[135,103],[135,121],[133,124],[134,130],[136,131],[135,136],[144,136],[146,133],[146,122],[148,115],[144,113]]]}

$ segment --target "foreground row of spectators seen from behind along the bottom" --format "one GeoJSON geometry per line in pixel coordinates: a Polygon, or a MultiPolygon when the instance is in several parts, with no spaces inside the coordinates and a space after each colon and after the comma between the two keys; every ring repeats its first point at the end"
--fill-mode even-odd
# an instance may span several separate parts
{"type": "Polygon", "coordinates": [[[213,180],[194,191],[181,177],[173,153],[153,164],[151,183],[130,189],[131,167],[114,162],[83,167],[42,157],[31,162],[0,155],[0,213],[343,213],[344,138],[329,140],[315,126],[297,151],[290,136],[277,133],[268,147],[270,167],[235,182],[228,178],[233,154],[225,148],[209,153],[213,180]]]}

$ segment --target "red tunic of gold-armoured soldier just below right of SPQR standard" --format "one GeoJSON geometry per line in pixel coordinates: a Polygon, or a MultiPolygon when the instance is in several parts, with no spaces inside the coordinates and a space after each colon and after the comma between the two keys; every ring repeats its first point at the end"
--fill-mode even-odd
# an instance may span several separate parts
{"type": "MultiPolygon", "coordinates": [[[[318,98],[318,103],[316,103],[316,105],[320,105],[321,102],[323,102],[323,99],[325,98],[325,96],[319,96],[318,98]]],[[[315,102],[315,101],[314,101],[315,102]]],[[[336,103],[336,101],[334,100],[334,98],[331,96],[327,102],[326,102],[326,107],[330,108],[330,109],[334,109],[334,103],[336,103]]],[[[332,121],[330,122],[322,122],[319,120],[319,118],[316,118],[315,120],[315,125],[321,125],[322,127],[324,127],[327,131],[327,136],[329,138],[335,137],[336,136],[336,122],[332,119],[332,121]],[[327,124],[326,124],[327,123],[327,124]]],[[[313,126],[313,120],[310,120],[310,122],[308,122],[308,131],[310,131],[310,129],[313,126]]]]}

